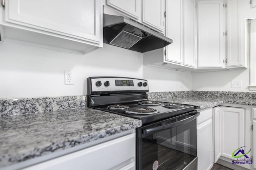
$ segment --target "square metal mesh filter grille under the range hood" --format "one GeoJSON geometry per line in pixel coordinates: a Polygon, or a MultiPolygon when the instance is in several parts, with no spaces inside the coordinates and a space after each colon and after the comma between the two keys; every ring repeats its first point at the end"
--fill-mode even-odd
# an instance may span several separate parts
{"type": "Polygon", "coordinates": [[[116,37],[114,37],[114,39],[112,39],[112,41],[110,41],[110,44],[130,49],[134,44],[140,41],[140,39],[142,39],[142,37],[122,30],[116,37]]]}

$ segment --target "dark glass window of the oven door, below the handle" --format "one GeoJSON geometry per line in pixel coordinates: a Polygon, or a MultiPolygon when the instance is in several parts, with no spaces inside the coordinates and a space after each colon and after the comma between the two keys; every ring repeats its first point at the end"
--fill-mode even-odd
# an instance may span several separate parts
{"type": "Polygon", "coordinates": [[[142,170],[182,170],[197,156],[196,119],[142,136],[142,170]]]}

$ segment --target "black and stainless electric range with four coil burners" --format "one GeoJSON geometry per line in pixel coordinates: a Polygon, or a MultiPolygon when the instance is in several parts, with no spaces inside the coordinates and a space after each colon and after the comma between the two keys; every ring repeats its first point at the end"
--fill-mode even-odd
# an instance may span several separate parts
{"type": "Polygon", "coordinates": [[[87,106],[142,121],[136,170],[197,169],[196,106],[148,101],[148,81],[89,77],[87,106]]]}

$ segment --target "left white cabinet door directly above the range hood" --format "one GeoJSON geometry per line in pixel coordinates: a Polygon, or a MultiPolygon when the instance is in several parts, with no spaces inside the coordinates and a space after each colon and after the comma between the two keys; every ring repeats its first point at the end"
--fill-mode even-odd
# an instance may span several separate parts
{"type": "Polygon", "coordinates": [[[107,0],[107,5],[136,20],[141,18],[141,0],[107,0]]]}

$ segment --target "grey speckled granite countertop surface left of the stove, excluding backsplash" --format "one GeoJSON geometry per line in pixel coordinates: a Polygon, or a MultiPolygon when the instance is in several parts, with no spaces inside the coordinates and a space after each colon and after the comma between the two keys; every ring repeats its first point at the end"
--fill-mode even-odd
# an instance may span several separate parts
{"type": "Polygon", "coordinates": [[[91,108],[0,117],[0,168],[141,126],[91,108]]]}

